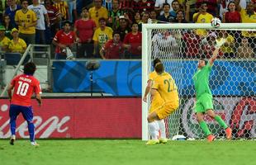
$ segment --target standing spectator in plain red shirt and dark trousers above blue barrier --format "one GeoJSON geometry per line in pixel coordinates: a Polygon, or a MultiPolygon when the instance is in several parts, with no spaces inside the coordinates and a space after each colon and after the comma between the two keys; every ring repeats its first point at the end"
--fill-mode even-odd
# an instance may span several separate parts
{"type": "Polygon", "coordinates": [[[81,19],[74,22],[73,31],[77,36],[78,49],[77,57],[92,57],[93,54],[93,32],[96,30],[96,23],[89,18],[88,8],[84,7],[81,12],[81,19]]]}

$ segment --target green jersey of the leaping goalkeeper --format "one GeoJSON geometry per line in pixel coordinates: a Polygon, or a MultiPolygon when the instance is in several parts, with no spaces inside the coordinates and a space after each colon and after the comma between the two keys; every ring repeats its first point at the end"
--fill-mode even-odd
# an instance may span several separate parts
{"type": "Polygon", "coordinates": [[[208,63],[205,67],[197,69],[197,72],[193,76],[193,82],[196,89],[197,99],[204,93],[211,94],[209,86],[209,77],[211,73],[211,65],[208,63]]]}

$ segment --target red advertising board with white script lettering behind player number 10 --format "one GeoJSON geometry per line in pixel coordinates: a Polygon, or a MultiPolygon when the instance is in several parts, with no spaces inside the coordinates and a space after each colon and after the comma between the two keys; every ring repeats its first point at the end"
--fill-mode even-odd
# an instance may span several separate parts
{"type": "MultiPolygon", "coordinates": [[[[52,98],[33,101],[36,138],[141,138],[140,98],[52,98]]],[[[0,100],[0,139],[9,138],[9,101],[0,100]]],[[[17,120],[17,137],[28,138],[17,120]]]]}

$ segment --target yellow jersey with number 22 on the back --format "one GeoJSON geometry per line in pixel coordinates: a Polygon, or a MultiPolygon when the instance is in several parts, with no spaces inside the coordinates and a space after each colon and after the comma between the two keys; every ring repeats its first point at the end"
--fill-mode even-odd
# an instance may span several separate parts
{"type": "Polygon", "coordinates": [[[152,88],[157,89],[165,102],[178,101],[178,87],[169,73],[158,74],[152,88]]]}

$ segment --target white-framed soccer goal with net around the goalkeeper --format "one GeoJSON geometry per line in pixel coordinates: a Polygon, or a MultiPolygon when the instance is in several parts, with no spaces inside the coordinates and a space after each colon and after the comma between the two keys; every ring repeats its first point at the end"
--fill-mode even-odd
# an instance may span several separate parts
{"type": "MultiPolygon", "coordinates": [[[[214,111],[233,129],[235,139],[256,137],[256,24],[144,24],[142,40],[142,91],[144,92],[152,63],[159,58],[165,71],[178,86],[180,106],[165,119],[168,139],[182,134],[187,138],[203,139],[196,114],[195,89],[192,76],[198,59],[210,59],[216,40],[225,39],[212,67],[210,87],[214,111]]],[[[144,93],[143,93],[144,95],[144,93]]],[[[143,96],[142,95],[142,96],[143,96]]],[[[142,139],[149,139],[147,115],[150,106],[142,102],[142,139]]],[[[204,120],[217,139],[225,131],[216,120],[204,120]]]]}

